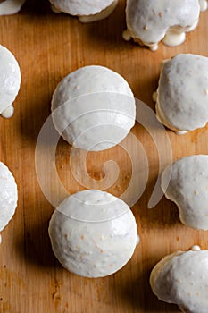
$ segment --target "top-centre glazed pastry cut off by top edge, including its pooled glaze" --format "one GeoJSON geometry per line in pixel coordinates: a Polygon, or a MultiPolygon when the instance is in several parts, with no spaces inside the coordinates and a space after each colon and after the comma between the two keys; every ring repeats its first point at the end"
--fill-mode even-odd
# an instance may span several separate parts
{"type": "Polygon", "coordinates": [[[54,13],[68,13],[79,16],[79,21],[100,21],[115,9],[118,0],[49,0],[54,13]]]}

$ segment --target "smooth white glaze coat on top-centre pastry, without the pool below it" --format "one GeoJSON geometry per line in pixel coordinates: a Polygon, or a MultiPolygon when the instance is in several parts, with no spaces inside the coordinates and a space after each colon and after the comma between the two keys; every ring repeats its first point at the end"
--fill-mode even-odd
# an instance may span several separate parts
{"type": "Polygon", "coordinates": [[[109,7],[114,0],[49,0],[54,7],[71,15],[94,15],[109,7]]]}

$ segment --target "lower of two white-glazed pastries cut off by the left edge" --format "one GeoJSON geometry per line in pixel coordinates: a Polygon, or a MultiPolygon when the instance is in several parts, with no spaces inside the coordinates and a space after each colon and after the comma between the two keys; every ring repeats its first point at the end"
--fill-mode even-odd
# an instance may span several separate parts
{"type": "Polygon", "coordinates": [[[0,162],[0,232],[9,223],[17,207],[17,185],[8,167],[0,162]]]}

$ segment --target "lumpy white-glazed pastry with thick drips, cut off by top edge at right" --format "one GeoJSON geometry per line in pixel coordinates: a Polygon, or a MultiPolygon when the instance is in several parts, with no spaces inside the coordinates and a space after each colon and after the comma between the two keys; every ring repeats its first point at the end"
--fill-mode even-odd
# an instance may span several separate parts
{"type": "Polygon", "coordinates": [[[186,32],[196,28],[199,13],[198,0],[127,0],[123,38],[133,38],[153,51],[161,40],[167,46],[178,46],[186,32]]]}

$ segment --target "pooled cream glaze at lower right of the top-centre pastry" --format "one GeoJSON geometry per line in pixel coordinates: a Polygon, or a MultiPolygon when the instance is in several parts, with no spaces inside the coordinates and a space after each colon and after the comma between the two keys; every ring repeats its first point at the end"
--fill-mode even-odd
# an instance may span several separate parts
{"type": "Polygon", "coordinates": [[[96,13],[93,15],[91,14],[91,15],[79,16],[79,21],[82,23],[88,23],[88,22],[92,22],[92,21],[102,21],[112,14],[112,12],[115,10],[117,4],[118,4],[118,0],[114,0],[112,2],[112,4],[107,6],[103,11],[101,11],[99,13],[96,13]]]}

